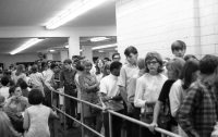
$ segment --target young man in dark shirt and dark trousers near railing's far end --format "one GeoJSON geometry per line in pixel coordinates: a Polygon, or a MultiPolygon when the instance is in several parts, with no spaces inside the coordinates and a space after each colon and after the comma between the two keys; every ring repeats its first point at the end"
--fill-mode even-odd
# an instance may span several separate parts
{"type": "MultiPolygon", "coordinates": [[[[64,68],[60,73],[60,91],[64,92],[65,95],[77,97],[76,92],[76,85],[74,83],[75,80],[75,74],[76,70],[72,68],[72,61],[70,59],[65,59],[63,61],[64,68]],[[64,91],[63,91],[64,87],[64,91]]],[[[65,98],[65,111],[68,114],[75,117],[76,113],[76,101],[70,98],[65,98]]],[[[68,119],[66,121],[68,128],[73,127],[73,122],[71,119],[68,119]]]]}

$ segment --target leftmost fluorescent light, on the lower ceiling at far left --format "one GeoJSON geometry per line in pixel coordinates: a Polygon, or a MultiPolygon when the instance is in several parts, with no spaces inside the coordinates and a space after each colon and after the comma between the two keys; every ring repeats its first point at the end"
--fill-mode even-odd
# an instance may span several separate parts
{"type": "Polygon", "coordinates": [[[19,52],[21,52],[21,51],[23,51],[23,50],[25,50],[25,49],[27,49],[27,48],[36,45],[37,42],[40,42],[41,40],[44,40],[44,39],[32,38],[28,41],[26,41],[24,45],[22,45],[21,47],[19,47],[17,49],[13,50],[11,52],[11,54],[19,53],[19,52]]]}

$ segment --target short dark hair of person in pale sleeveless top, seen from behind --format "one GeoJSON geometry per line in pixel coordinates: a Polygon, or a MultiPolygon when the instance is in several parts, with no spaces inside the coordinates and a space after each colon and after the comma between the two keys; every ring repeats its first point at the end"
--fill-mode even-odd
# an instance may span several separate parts
{"type": "Polygon", "coordinates": [[[28,94],[29,104],[40,104],[44,100],[43,92],[39,89],[32,89],[28,94]]]}

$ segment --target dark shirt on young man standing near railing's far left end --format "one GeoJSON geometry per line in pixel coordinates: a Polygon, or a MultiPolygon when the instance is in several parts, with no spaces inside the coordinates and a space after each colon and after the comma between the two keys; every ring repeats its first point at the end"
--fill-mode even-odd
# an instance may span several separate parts
{"type": "Polygon", "coordinates": [[[63,71],[61,71],[60,73],[60,88],[62,88],[64,85],[69,85],[69,86],[75,86],[75,74],[76,71],[73,68],[65,68],[63,71]]]}

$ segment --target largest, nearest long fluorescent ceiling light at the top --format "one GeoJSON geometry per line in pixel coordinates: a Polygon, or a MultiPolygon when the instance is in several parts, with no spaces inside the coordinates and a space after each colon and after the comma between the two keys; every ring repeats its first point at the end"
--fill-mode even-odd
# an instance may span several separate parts
{"type": "Polygon", "coordinates": [[[46,24],[47,29],[55,29],[66,22],[77,17],[78,15],[89,11],[90,9],[99,5],[106,0],[76,0],[73,2],[72,7],[66,9],[60,15],[56,16],[53,20],[46,24]]]}

